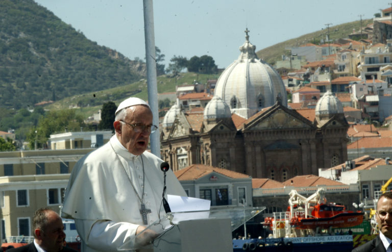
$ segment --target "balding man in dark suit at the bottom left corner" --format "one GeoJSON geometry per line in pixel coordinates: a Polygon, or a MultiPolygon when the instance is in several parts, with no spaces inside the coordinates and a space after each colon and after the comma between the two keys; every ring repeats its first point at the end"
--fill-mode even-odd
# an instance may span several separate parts
{"type": "Polygon", "coordinates": [[[9,252],[77,252],[64,246],[64,225],[60,216],[50,208],[40,208],[33,217],[34,242],[9,252]]]}

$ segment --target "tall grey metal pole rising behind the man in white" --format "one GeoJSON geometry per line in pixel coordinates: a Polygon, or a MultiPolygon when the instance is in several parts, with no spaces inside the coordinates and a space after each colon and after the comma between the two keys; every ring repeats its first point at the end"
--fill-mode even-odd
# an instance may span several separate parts
{"type": "MultiPolygon", "coordinates": [[[[158,115],[158,88],[157,88],[157,65],[155,60],[155,37],[154,37],[154,11],[153,0],[143,0],[144,11],[144,39],[145,39],[145,62],[147,67],[147,88],[149,105],[153,112],[153,124],[159,125],[158,115]]],[[[151,153],[161,157],[159,131],[150,136],[151,153]]]]}

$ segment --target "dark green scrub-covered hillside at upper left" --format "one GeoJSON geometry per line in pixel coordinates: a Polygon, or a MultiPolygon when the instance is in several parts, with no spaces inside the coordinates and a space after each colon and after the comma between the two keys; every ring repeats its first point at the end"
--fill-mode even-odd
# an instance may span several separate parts
{"type": "Polygon", "coordinates": [[[96,42],[33,0],[0,1],[0,107],[133,83],[145,66],[96,42]]]}

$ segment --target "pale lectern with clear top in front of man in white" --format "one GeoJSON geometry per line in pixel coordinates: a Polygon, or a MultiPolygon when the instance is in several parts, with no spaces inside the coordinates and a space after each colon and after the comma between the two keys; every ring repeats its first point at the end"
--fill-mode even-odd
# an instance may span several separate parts
{"type": "MultiPolygon", "coordinates": [[[[154,252],[233,251],[232,231],[265,208],[235,207],[210,211],[168,213],[146,230],[160,234],[152,244],[142,247],[154,252]]],[[[136,241],[145,244],[143,232],[136,241]]]]}

